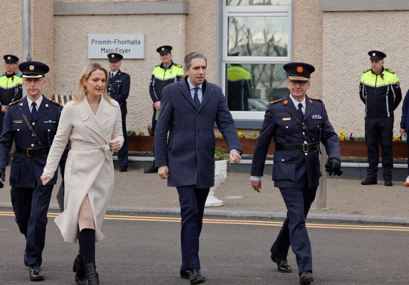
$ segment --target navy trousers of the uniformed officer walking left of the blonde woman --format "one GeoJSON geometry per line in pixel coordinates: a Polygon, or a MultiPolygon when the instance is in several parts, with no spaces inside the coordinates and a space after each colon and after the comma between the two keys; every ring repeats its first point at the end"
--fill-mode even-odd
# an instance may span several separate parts
{"type": "Polygon", "coordinates": [[[41,265],[46,240],[47,212],[54,185],[11,187],[11,203],[21,234],[26,237],[27,264],[41,265]]]}

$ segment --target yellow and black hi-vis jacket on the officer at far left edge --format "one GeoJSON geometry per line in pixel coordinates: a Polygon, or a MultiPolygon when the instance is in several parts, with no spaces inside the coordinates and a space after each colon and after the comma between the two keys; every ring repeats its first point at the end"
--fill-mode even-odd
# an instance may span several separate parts
{"type": "MultiPolygon", "coordinates": [[[[0,75],[0,108],[9,105],[22,96],[21,74],[0,75]]],[[[3,113],[2,113],[3,114],[3,113]]]]}

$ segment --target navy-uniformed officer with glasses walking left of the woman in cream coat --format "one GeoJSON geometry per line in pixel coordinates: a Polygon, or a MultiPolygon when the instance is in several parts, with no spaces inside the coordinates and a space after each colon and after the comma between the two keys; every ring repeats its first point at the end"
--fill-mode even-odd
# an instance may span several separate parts
{"type": "MultiPolygon", "coordinates": [[[[43,186],[40,176],[57,132],[62,106],[41,94],[44,74],[50,69],[35,61],[21,63],[27,97],[10,103],[0,137],[0,177],[5,180],[8,153],[14,142],[11,159],[11,202],[21,234],[26,237],[24,261],[30,267],[32,281],[43,280],[41,263],[46,237],[47,211],[57,182],[57,171],[50,184],[43,186]]],[[[60,161],[61,173],[67,151],[60,161]]],[[[3,187],[3,184],[2,184],[3,187]]]]}

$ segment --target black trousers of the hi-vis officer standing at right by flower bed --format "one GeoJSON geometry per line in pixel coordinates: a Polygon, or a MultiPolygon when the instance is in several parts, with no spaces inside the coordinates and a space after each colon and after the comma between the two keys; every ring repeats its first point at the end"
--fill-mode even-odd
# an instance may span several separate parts
{"type": "Polygon", "coordinates": [[[379,143],[382,148],[383,179],[392,179],[393,117],[365,118],[365,141],[368,146],[368,178],[377,178],[379,143]]]}

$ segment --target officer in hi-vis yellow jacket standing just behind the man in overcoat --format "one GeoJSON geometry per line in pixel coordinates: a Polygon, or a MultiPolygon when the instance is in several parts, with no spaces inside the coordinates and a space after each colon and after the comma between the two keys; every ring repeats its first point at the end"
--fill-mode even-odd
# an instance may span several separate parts
{"type": "MultiPolygon", "coordinates": [[[[153,102],[152,134],[155,133],[156,122],[161,110],[162,90],[165,86],[183,79],[183,68],[172,61],[172,47],[162,45],[156,48],[161,57],[161,63],[156,65],[152,71],[152,78],[149,83],[149,94],[153,102]]],[[[155,150],[153,149],[153,154],[155,150]]],[[[156,173],[155,161],[150,168],[144,170],[145,173],[156,173]]]]}

